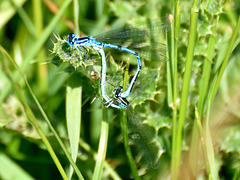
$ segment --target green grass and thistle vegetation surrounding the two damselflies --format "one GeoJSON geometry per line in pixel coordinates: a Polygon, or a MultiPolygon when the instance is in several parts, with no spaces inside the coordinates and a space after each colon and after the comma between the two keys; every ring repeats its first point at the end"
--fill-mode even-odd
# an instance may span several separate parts
{"type": "MultiPolygon", "coordinates": [[[[239,11],[236,0],[1,1],[0,177],[15,168],[24,179],[239,179],[239,11]],[[169,61],[142,60],[129,97],[150,82],[131,105],[156,136],[149,143],[164,148],[160,166],[144,169],[128,144],[126,112],[91,103],[98,54],[90,48],[92,59],[70,61],[61,39],[167,14],[169,61]]],[[[108,81],[126,87],[135,58],[106,55],[108,81]]]]}

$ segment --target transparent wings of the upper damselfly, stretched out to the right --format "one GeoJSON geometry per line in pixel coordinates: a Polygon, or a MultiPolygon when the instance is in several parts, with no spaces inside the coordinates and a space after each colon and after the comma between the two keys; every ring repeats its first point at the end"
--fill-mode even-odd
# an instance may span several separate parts
{"type": "Polygon", "coordinates": [[[94,36],[94,38],[99,42],[127,47],[151,60],[167,61],[166,52],[169,50],[166,45],[167,31],[168,26],[161,20],[152,20],[125,25],[123,28],[94,36]]]}

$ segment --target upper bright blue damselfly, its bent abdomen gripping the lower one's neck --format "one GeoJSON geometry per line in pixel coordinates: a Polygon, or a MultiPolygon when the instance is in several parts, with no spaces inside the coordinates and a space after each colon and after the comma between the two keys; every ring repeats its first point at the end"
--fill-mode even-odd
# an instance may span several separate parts
{"type": "MultiPolygon", "coordinates": [[[[97,36],[79,37],[70,33],[67,38],[69,46],[75,46],[80,56],[86,57],[88,50],[85,47],[91,46],[97,50],[101,57],[103,48],[117,49],[123,52],[133,54],[137,58],[137,70],[130,81],[126,91],[122,92],[119,87],[116,91],[116,96],[125,99],[132,92],[135,81],[141,71],[140,56],[149,57],[153,60],[166,61],[164,53],[167,51],[167,46],[164,43],[167,25],[162,24],[160,20],[149,21],[148,23],[136,24],[136,26],[126,25],[119,30],[113,30],[97,36]],[[123,46],[121,46],[123,45],[123,46]],[[126,48],[126,47],[128,48],[126,48]]],[[[106,68],[107,67],[103,67],[106,68]]],[[[101,84],[101,86],[104,86],[101,84]]],[[[104,95],[104,94],[103,94],[104,95]]],[[[107,98],[104,98],[107,100],[107,98]]]]}

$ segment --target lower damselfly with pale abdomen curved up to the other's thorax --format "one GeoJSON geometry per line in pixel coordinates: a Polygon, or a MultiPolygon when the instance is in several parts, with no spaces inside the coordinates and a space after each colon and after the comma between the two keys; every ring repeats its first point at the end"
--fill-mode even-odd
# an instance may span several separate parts
{"type": "MultiPolygon", "coordinates": [[[[159,159],[164,152],[163,147],[157,140],[156,134],[152,131],[152,129],[149,128],[149,126],[144,123],[142,118],[134,111],[131,104],[132,102],[123,98],[121,96],[118,96],[119,92],[122,91],[122,87],[119,86],[118,88],[114,89],[113,91],[113,97],[109,97],[106,94],[106,66],[104,65],[106,63],[105,54],[102,53],[102,82],[101,82],[101,91],[102,91],[102,97],[106,100],[104,103],[106,107],[112,106],[114,108],[118,109],[124,109],[127,111],[127,119],[128,119],[128,134],[131,139],[131,144],[134,145],[135,149],[137,149],[137,152],[141,154],[141,158],[143,161],[143,165],[146,165],[147,167],[158,167],[159,165],[159,159]]],[[[140,98],[145,96],[146,99],[153,99],[154,95],[157,94],[156,92],[156,80],[158,79],[158,70],[150,70],[148,72],[145,72],[142,74],[138,81],[141,82],[138,88],[138,86],[135,87],[138,88],[136,91],[134,90],[134,93],[131,93],[131,95],[135,95],[133,97],[134,100],[136,98],[140,98]],[[147,92],[148,91],[148,92],[147,92]],[[146,97],[146,94],[150,94],[150,97],[146,97]]]]}

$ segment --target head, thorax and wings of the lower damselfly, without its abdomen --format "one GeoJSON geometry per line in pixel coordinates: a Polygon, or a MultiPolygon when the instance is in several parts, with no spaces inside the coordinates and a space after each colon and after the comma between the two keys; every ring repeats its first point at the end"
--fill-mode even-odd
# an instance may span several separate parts
{"type": "MultiPolygon", "coordinates": [[[[138,91],[142,94],[137,93],[137,97],[133,97],[133,101],[137,100],[137,98],[140,98],[139,96],[143,97],[147,93],[152,96],[148,97],[148,99],[153,99],[154,94],[157,94],[157,92],[153,90],[155,89],[153,86],[156,82],[156,79],[159,77],[156,75],[156,72],[156,70],[150,70],[138,78],[138,80],[145,79],[145,82],[143,83],[146,83],[146,81],[150,83],[145,84],[145,87],[142,85],[143,88],[140,87],[140,89],[138,89],[139,91],[134,90],[134,93],[138,91]]],[[[139,86],[141,86],[141,84],[139,86]]],[[[111,103],[109,103],[108,106],[124,109],[127,112],[127,125],[128,135],[131,142],[130,144],[132,144],[134,149],[137,150],[137,153],[140,154],[139,159],[144,167],[157,168],[159,166],[159,159],[164,152],[164,148],[158,141],[154,129],[150,128],[147,121],[144,121],[143,118],[140,117],[132,108],[131,104],[133,102],[128,101],[126,98],[115,96],[120,88],[121,87],[118,87],[114,90],[114,96],[110,97],[111,103]]],[[[135,89],[136,88],[138,88],[138,86],[136,86],[135,89]]],[[[133,96],[133,93],[131,93],[131,96],[133,96]]]]}

